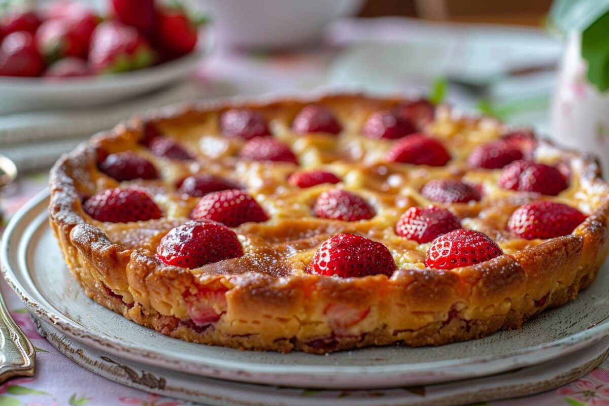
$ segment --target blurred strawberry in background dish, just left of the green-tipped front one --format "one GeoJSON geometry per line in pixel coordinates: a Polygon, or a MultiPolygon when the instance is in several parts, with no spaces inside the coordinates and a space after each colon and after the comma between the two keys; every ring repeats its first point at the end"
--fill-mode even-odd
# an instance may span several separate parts
{"type": "Polygon", "coordinates": [[[44,21],[36,32],[38,49],[48,60],[86,58],[99,18],[84,8],[74,10],[64,18],[44,21]]]}

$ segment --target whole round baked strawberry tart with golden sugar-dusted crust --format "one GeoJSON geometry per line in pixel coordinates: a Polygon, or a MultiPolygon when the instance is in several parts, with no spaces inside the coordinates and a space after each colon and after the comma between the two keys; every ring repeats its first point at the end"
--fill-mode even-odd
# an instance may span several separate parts
{"type": "Polygon", "coordinates": [[[609,247],[599,173],[495,119],[338,95],[136,117],[55,164],[49,211],[86,294],[135,323],[323,354],[576,298],[609,247]]]}

